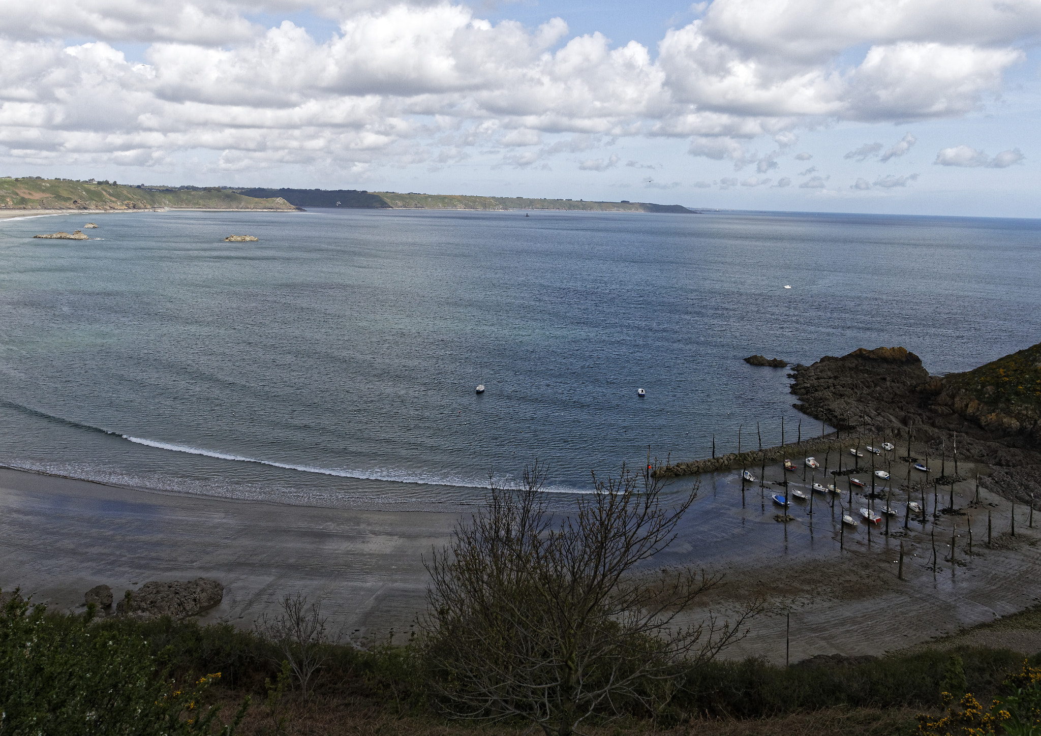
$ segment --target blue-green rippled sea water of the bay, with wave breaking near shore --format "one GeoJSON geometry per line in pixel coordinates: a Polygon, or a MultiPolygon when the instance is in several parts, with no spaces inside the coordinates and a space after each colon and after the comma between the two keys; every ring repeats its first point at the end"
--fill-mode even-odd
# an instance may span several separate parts
{"type": "Polygon", "coordinates": [[[383,507],[471,501],[537,457],[581,491],[649,445],[819,432],[752,353],[900,345],[946,373],[1041,340],[1041,221],[99,217],[86,242],[31,238],[79,215],[0,221],[4,464],[383,507]]]}

